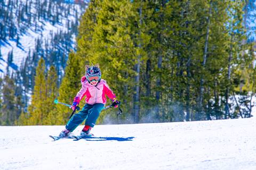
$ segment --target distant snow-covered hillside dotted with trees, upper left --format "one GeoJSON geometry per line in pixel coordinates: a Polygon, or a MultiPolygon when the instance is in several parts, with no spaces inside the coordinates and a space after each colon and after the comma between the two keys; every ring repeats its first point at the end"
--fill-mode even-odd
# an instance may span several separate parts
{"type": "MultiPolygon", "coordinates": [[[[71,23],[78,25],[78,19],[84,13],[87,1],[5,0],[3,3],[1,6],[9,12],[6,15],[10,20],[10,23],[4,23],[6,34],[11,32],[11,28],[17,33],[13,38],[10,38],[10,35],[6,39],[0,38],[0,54],[2,55],[0,55],[0,75],[1,72],[6,71],[7,58],[10,52],[13,52],[12,68],[17,70],[22,61],[29,55],[29,52],[36,48],[38,39],[43,39],[42,47],[45,49],[46,43],[52,43],[47,42],[51,36],[59,32],[69,32],[68,29],[70,29],[71,23]],[[84,4],[81,4],[81,2],[84,2],[84,4]],[[11,10],[9,9],[10,3],[15,4],[12,5],[11,10]],[[21,10],[21,8],[24,8],[24,10],[21,10]],[[22,19],[20,19],[21,12],[24,13],[22,19]],[[58,21],[55,21],[56,18],[58,18],[58,21]],[[30,23],[26,27],[28,21],[30,23]],[[10,31],[7,31],[8,29],[10,31]]],[[[73,49],[75,48],[75,36],[73,35],[73,40],[71,40],[73,41],[73,49]]]]}

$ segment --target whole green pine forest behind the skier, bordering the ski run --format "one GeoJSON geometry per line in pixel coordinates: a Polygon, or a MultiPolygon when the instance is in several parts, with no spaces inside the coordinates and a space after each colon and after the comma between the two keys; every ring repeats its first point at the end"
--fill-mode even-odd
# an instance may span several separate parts
{"type": "Polygon", "coordinates": [[[254,1],[241,0],[90,1],[63,77],[36,55],[33,76],[23,67],[0,79],[0,125],[67,123],[70,109],[53,101],[71,104],[84,66],[96,63],[123,109],[102,111],[98,124],[251,117],[253,9],[254,1]]]}

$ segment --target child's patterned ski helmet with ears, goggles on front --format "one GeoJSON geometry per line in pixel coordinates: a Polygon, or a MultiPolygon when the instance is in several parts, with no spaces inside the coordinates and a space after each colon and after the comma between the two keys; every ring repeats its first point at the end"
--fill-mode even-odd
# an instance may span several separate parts
{"type": "Polygon", "coordinates": [[[101,72],[99,64],[89,66],[85,65],[85,77],[88,81],[99,81],[101,79],[101,72]]]}

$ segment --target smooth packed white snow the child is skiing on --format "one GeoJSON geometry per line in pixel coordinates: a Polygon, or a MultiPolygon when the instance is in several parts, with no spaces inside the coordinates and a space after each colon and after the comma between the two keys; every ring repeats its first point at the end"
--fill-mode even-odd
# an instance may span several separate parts
{"type": "Polygon", "coordinates": [[[256,169],[255,117],[96,125],[93,139],[52,141],[63,128],[0,126],[0,169],[256,169]]]}

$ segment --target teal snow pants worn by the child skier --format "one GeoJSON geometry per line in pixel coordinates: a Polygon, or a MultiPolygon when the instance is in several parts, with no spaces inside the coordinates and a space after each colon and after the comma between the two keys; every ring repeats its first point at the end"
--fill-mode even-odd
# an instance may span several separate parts
{"type": "Polygon", "coordinates": [[[71,117],[66,125],[66,129],[73,132],[85,119],[85,125],[89,125],[93,128],[103,108],[104,104],[102,103],[93,105],[85,104],[80,112],[71,117]]]}

